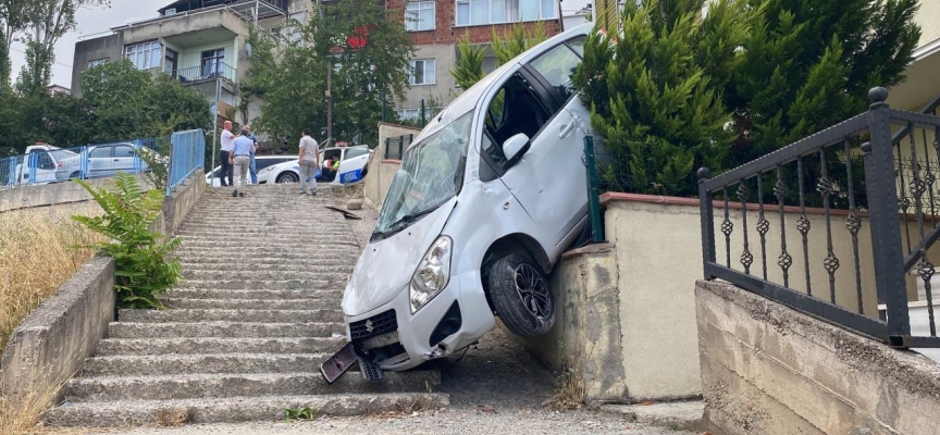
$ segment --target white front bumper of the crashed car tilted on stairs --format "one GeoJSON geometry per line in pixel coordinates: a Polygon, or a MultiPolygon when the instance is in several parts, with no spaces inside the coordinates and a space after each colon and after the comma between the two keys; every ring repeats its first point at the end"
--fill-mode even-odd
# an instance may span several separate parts
{"type": "Polygon", "coordinates": [[[383,370],[413,369],[447,357],[496,324],[480,283],[479,271],[452,276],[447,288],[415,314],[406,288],[367,313],[344,314],[346,335],[383,370]]]}

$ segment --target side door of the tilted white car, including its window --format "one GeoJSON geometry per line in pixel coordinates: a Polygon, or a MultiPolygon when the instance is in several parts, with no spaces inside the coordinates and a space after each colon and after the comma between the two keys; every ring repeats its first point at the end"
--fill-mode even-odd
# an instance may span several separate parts
{"type": "MultiPolygon", "coordinates": [[[[540,234],[534,236],[547,246],[562,244],[588,212],[588,177],[582,163],[585,130],[579,123],[583,107],[571,83],[580,62],[568,42],[546,49],[520,70],[521,86],[506,89],[500,120],[491,116],[488,122],[488,139],[495,144],[516,133],[530,137],[528,151],[502,178],[539,226],[540,234]],[[524,119],[527,113],[534,114],[534,122],[524,119]],[[533,135],[530,132],[536,129],[540,117],[546,121],[533,135]],[[517,127],[521,122],[531,125],[517,127]],[[506,123],[510,128],[503,132],[502,124],[506,123]]],[[[498,104],[498,98],[494,102],[498,104]]]]}

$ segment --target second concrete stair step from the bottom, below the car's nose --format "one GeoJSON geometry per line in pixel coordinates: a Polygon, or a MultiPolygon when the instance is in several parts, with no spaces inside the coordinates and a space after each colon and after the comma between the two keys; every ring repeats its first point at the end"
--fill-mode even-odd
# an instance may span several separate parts
{"type": "Polygon", "coordinates": [[[332,385],[319,372],[89,377],[70,381],[65,386],[65,400],[100,402],[336,393],[426,393],[429,386],[440,385],[441,374],[436,371],[386,372],[382,382],[373,383],[350,370],[332,385]]]}

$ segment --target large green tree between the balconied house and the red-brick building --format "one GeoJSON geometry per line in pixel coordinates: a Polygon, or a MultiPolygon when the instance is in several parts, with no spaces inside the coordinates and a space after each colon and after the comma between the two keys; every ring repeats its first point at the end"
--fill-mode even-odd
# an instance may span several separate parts
{"type": "Polygon", "coordinates": [[[260,116],[251,123],[270,137],[298,138],[301,129],[310,128],[325,139],[326,67],[332,59],[333,136],[374,144],[382,94],[404,99],[408,60],[413,57],[405,27],[389,20],[401,11],[342,0],[324,7],[323,15],[295,23],[295,40],[251,35],[257,57],[252,54],[250,78],[242,86],[264,99],[260,116]],[[364,36],[364,47],[349,47],[355,36],[364,36]]]}

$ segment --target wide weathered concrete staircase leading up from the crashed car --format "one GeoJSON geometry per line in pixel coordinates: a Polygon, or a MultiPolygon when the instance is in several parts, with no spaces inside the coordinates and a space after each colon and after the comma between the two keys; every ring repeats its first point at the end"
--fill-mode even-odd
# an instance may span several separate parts
{"type": "Polygon", "coordinates": [[[230,423],[284,419],[285,409],[358,415],[442,407],[436,371],[350,370],[327,385],[319,366],[345,344],[339,301],[360,248],[329,191],[258,186],[245,198],[207,192],[178,234],[186,278],[170,309],[121,310],[51,426],[230,423]]]}

